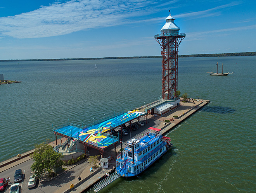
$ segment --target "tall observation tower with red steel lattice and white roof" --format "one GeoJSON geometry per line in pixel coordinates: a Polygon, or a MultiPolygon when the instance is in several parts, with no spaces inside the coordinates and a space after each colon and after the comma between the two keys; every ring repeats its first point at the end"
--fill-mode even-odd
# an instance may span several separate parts
{"type": "Polygon", "coordinates": [[[166,23],[155,35],[162,51],[162,98],[173,100],[177,98],[178,90],[178,47],[186,34],[180,33],[180,27],[171,14],[166,17],[166,23]]]}

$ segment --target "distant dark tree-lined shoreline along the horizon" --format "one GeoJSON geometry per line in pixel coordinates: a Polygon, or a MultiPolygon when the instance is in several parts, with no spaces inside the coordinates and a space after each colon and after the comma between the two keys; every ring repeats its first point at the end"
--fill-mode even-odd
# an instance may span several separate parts
{"type": "MultiPolygon", "coordinates": [[[[179,55],[179,58],[189,57],[223,57],[223,56],[256,56],[256,52],[220,53],[220,54],[191,54],[179,55]]],[[[137,58],[161,58],[162,56],[130,56],[130,57],[103,57],[103,58],[60,58],[60,59],[24,59],[24,60],[0,60],[1,61],[64,61],[64,60],[108,60],[108,59],[137,59],[137,58]]]]}

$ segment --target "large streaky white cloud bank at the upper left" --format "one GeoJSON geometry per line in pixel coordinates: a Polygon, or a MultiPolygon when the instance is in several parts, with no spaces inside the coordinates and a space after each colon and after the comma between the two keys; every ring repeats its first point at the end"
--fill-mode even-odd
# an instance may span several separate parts
{"type": "MultiPolygon", "coordinates": [[[[131,17],[149,14],[156,0],[69,0],[0,18],[0,34],[14,38],[42,38],[120,25],[131,17]]],[[[129,22],[129,21],[128,21],[129,22]]]]}

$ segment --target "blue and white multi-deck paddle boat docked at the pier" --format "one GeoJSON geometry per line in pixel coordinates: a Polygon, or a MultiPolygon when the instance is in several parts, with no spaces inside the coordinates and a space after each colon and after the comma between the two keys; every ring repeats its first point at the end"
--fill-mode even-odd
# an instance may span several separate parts
{"type": "Polygon", "coordinates": [[[161,157],[173,144],[169,137],[160,133],[161,129],[150,127],[149,131],[127,142],[116,159],[116,173],[123,177],[132,177],[142,173],[161,157]]]}

